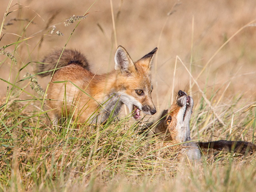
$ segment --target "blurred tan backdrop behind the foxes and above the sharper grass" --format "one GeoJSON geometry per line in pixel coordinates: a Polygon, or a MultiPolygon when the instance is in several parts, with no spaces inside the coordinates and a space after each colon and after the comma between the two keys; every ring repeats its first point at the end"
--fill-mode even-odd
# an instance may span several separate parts
{"type": "MultiPolygon", "coordinates": [[[[7,0],[1,1],[1,21],[8,3],[7,0]]],[[[134,61],[158,47],[152,68],[152,99],[159,109],[158,114],[170,104],[176,56],[188,69],[191,68],[194,78],[207,64],[197,81],[208,97],[218,91],[217,94],[224,94],[222,103],[232,102],[235,95],[244,95],[242,103],[256,100],[255,0],[113,0],[112,3],[113,12],[111,1],[106,0],[95,3],[94,0],[13,0],[10,9],[13,12],[4,22],[0,47],[18,41],[19,36],[20,40],[32,38],[18,45],[14,53],[18,64],[12,66],[10,82],[13,83],[23,65],[41,61],[52,49],[64,47],[77,24],[65,27],[64,21],[72,15],[83,15],[91,7],[88,18],[75,29],[67,48],[83,52],[91,63],[92,71],[101,74],[114,69],[116,45],[122,45],[134,61]],[[29,24],[29,21],[32,22],[29,24]],[[251,26],[244,27],[250,22],[251,26]],[[47,33],[53,25],[64,36],[47,33]],[[228,44],[215,54],[233,35],[228,44]]],[[[6,50],[13,53],[14,46],[6,50]]],[[[8,80],[11,60],[5,56],[0,56],[0,60],[0,77],[8,80]]],[[[27,71],[35,74],[36,65],[29,64],[21,71],[18,80],[27,71]]],[[[39,84],[45,88],[49,79],[39,78],[39,84]]],[[[189,91],[190,76],[180,61],[177,62],[174,80],[174,92],[180,89],[189,91]]],[[[7,84],[1,82],[1,98],[6,96],[6,87],[7,84]]],[[[26,91],[37,94],[29,86],[26,91]]],[[[196,85],[189,94],[195,100],[200,97],[196,85]]],[[[22,93],[20,97],[31,96],[22,93]]]]}

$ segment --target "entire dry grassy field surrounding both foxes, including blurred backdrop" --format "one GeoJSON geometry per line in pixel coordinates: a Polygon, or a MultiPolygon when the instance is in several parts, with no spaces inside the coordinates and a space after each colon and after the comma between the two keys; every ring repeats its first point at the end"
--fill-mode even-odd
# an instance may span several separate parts
{"type": "MultiPolygon", "coordinates": [[[[152,93],[158,114],[151,119],[182,89],[195,100],[194,139],[254,142],[255,107],[244,112],[256,100],[254,0],[10,2],[0,33],[0,47],[10,45],[9,58],[0,55],[0,191],[254,190],[255,155],[211,151],[198,166],[181,164],[175,151],[149,146],[137,134],[141,125],[124,113],[93,129],[64,123],[55,131],[23,77],[65,44],[84,52],[97,73],[113,69],[115,41],[134,60],[158,46],[152,93]],[[78,21],[64,26],[91,5],[77,27],[78,21]],[[53,25],[64,36],[51,35],[53,25]]],[[[1,18],[8,3],[1,4],[1,18]]],[[[43,88],[48,82],[38,80],[43,88]]]]}

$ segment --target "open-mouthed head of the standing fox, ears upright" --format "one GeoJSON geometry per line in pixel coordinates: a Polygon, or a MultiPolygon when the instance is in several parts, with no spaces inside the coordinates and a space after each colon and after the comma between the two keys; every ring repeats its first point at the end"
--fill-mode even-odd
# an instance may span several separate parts
{"type": "Polygon", "coordinates": [[[157,51],[146,54],[140,60],[133,62],[126,50],[119,46],[115,54],[116,89],[120,101],[133,112],[135,119],[140,119],[140,111],[148,115],[156,113],[151,99],[153,89],[151,83],[151,66],[157,51]]]}

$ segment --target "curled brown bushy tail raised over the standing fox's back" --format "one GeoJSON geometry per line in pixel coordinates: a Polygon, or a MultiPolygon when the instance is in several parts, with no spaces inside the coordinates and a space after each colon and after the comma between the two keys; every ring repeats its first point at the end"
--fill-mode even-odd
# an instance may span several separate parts
{"type": "MultiPolygon", "coordinates": [[[[85,56],[72,49],[65,49],[60,57],[60,54],[62,52],[62,49],[54,50],[53,52],[49,53],[44,57],[43,63],[49,63],[49,64],[39,64],[37,68],[37,73],[49,71],[56,67],[56,64],[58,62],[58,65],[56,68],[65,67],[70,64],[76,64],[80,65],[83,68],[89,70],[89,64],[85,56]]],[[[53,71],[45,72],[39,74],[40,76],[48,76],[51,75],[53,71]]]]}

